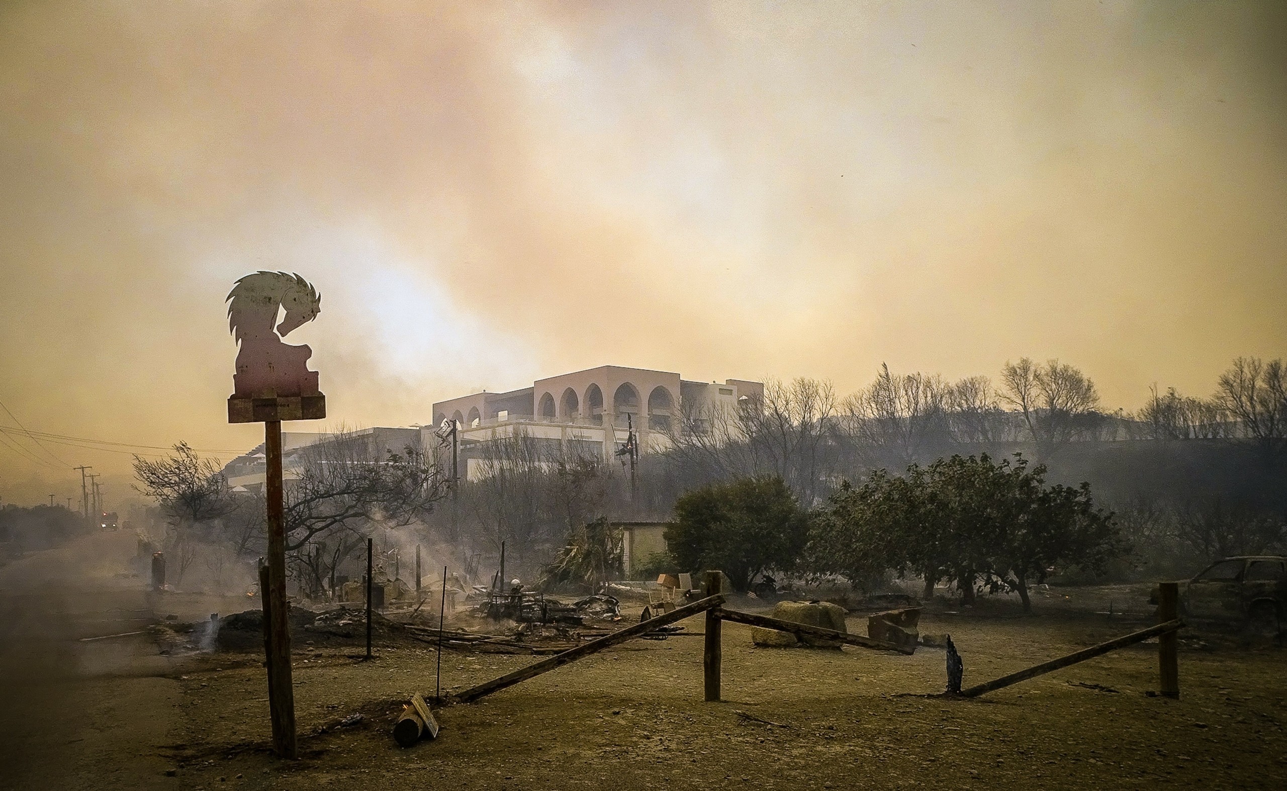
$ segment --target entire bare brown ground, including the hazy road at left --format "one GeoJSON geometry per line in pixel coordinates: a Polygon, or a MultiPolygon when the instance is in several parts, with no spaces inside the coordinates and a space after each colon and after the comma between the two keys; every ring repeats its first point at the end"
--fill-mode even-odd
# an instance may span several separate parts
{"type": "MultiPolygon", "coordinates": [[[[237,602],[154,601],[104,570],[35,592],[55,557],[0,568],[0,787],[41,788],[1281,788],[1287,783],[1287,651],[1190,632],[1181,698],[1157,686],[1142,644],[978,700],[932,697],[942,650],[754,648],[723,626],[723,702],[703,702],[700,617],[689,635],[633,641],[479,704],[438,711],[435,741],[398,747],[390,729],[412,692],[432,692],[431,646],[355,648],[296,642],[299,761],[273,759],[261,656],[157,655],[148,635],[82,643],[162,610],[233,611],[237,602]],[[93,606],[88,606],[91,603],[93,606]],[[115,620],[113,620],[115,619],[115,620]],[[351,714],[363,719],[336,727],[351,714]]],[[[133,541],[133,539],[130,539],[133,541]]],[[[84,549],[84,548],[81,548],[84,549]]],[[[129,547],[133,550],[133,543],[129,547]]],[[[76,548],[63,552],[66,561],[76,548]]],[[[121,554],[127,554],[117,548],[121,554]]],[[[1006,601],[921,617],[950,633],[978,683],[1149,623],[1147,586],[1059,590],[1023,616],[1006,601]],[[1064,598],[1068,597],[1068,598],[1064,598]],[[1118,598],[1120,597],[1120,598],[1118,598]],[[1107,611],[1112,602],[1115,615],[1107,611]],[[1127,611],[1134,615],[1118,615],[1127,611]]],[[[753,602],[739,602],[748,607],[753,602]]],[[[849,619],[865,632],[865,620],[849,619]]],[[[444,652],[459,689],[539,657],[444,652]]]]}

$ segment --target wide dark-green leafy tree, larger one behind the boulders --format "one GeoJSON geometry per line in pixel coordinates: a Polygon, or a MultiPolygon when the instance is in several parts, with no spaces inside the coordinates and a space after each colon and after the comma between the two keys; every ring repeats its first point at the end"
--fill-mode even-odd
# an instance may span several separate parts
{"type": "Polygon", "coordinates": [[[1077,565],[1102,571],[1127,548],[1112,513],[1095,508],[1090,487],[1045,484],[1045,467],[954,455],[906,475],[876,471],[861,486],[843,485],[813,518],[811,567],[858,585],[883,568],[919,574],[925,596],[940,579],[965,602],[976,583],[1017,590],[1049,570],[1077,565]]]}

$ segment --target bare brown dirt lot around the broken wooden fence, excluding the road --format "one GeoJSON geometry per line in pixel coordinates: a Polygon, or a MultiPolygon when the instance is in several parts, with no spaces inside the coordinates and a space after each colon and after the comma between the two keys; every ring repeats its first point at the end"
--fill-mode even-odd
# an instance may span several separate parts
{"type": "MultiPolygon", "coordinates": [[[[685,624],[700,633],[700,617],[685,624]]],[[[951,633],[976,683],[1133,630],[1106,617],[927,614],[951,633]]],[[[865,620],[849,619],[851,630],[865,620]]],[[[301,647],[295,664],[304,758],[265,751],[257,655],[202,657],[180,678],[190,740],[170,751],[185,787],[319,785],[458,788],[1281,787],[1287,777],[1287,653],[1187,641],[1183,697],[1149,697],[1144,644],[981,700],[942,689],[942,650],[903,657],[753,648],[725,624],[723,697],[704,704],[699,637],[632,642],[438,711],[438,740],[403,750],[390,729],[412,692],[434,691],[436,655],[386,647],[375,662],[301,647]],[[360,713],[351,727],[337,723],[360,713]],[[238,778],[237,776],[241,774],[238,778]],[[220,781],[220,778],[225,778],[220,781]]],[[[459,689],[534,657],[444,653],[459,689]]]]}

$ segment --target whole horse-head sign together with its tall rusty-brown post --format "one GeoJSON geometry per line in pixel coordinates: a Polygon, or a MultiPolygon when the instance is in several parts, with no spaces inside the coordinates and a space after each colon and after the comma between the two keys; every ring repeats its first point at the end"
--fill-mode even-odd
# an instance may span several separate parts
{"type": "Polygon", "coordinates": [[[259,271],[237,280],[228,295],[228,324],[237,338],[237,373],[228,399],[229,423],[264,423],[264,496],[268,500],[268,556],[260,574],[264,653],[273,720],[273,751],[299,758],[295,689],[291,682],[291,629],[286,601],[286,520],[282,490],[282,421],[326,417],[318,374],[309,370],[313,350],[282,342],[311,322],[322,297],[300,275],[259,271]],[[277,323],[281,310],[286,310],[277,323]],[[274,327],[274,324],[277,324],[274,327]]]}

